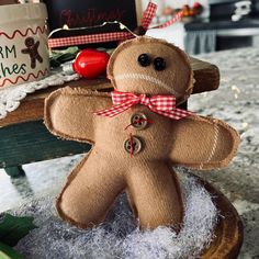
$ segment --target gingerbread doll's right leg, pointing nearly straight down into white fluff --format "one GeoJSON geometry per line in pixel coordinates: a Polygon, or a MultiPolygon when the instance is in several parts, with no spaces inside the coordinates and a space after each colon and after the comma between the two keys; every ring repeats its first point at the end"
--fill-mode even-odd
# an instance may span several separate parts
{"type": "Polygon", "coordinates": [[[132,206],[143,228],[159,225],[179,229],[183,203],[176,173],[165,162],[134,167],[127,173],[132,206]]]}

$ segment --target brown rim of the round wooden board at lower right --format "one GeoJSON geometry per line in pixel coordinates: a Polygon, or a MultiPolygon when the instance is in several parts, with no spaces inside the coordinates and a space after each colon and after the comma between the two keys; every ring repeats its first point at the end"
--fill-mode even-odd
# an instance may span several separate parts
{"type": "Polygon", "coordinates": [[[202,185],[212,194],[219,211],[219,218],[215,228],[215,238],[201,256],[202,259],[233,259],[237,258],[243,244],[243,223],[236,209],[227,198],[209,182],[199,178],[202,185]]]}

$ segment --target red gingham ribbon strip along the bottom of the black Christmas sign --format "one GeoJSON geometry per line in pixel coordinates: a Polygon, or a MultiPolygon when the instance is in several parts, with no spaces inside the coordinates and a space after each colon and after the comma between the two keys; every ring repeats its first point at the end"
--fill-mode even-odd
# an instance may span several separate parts
{"type": "Polygon", "coordinates": [[[71,36],[71,37],[59,37],[59,38],[49,38],[48,47],[65,47],[65,46],[75,46],[89,43],[103,43],[103,42],[120,42],[124,40],[130,40],[134,37],[133,34],[128,32],[113,32],[113,33],[100,33],[100,34],[90,34],[81,36],[71,36]]]}

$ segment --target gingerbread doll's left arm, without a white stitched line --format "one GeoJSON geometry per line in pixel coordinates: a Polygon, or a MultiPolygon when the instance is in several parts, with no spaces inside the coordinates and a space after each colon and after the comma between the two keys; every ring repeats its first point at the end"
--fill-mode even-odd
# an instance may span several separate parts
{"type": "Polygon", "coordinates": [[[100,117],[93,112],[111,105],[110,93],[66,87],[45,100],[45,124],[56,136],[94,143],[94,128],[100,117]]]}

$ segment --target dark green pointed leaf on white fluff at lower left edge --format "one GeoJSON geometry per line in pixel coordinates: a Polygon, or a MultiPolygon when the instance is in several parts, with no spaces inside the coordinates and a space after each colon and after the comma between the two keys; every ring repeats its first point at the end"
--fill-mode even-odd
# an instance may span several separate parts
{"type": "Polygon", "coordinates": [[[34,228],[36,226],[33,224],[33,217],[16,217],[3,214],[0,219],[0,241],[13,247],[34,228]]]}

